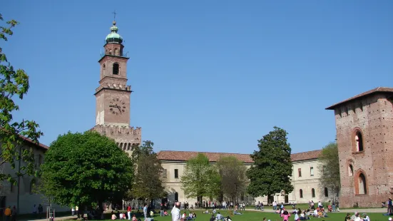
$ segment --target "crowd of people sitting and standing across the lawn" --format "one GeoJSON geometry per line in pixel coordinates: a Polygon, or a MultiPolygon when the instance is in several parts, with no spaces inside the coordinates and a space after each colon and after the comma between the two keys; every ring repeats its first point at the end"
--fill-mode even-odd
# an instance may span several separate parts
{"type": "MultiPolygon", "coordinates": [[[[303,210],[300,209],[299,207],[296,207],[295,204],[290,204],[290,205],[284,205],[284,203],[281,203],[280,205],[277,204],[277,202],[272,202],[272,209],[273,211],[279,215],[283,219],[283,221],[289,221],[290,218],[292,220],[298,221],[298,220],[310,220],[310,217],[316,217],[316,218],[323,218],[323,217],[329,217],[329,212],[340,212],[340,207],[339,207],[339,202],[337,200],[329,201],[327,204],[327,208],[325,209],[325,206],[322,204],[322,202],[317,202],[317,205],[315,205],[315,202],[313,200],[310,200],[308,203],[308,207],[304,208],[303,210]],[[287,210],[285,208],[291,207],[292,206],[292,212],[290,210],[287,210]]],[[[387,205],[387,213],[384,215],[393,215],[393,203],[392,199],[389,198],[389,200],[386,202],[387,205]]],[[[126,207],[126,212],[119,212],[118,210],[118,205],[114,205],[112,207],[113,211],[111,213],[111,219],[112,220],[133,220],[133,221],[142,221],[141,218],[137,217],[143,217],[143,221],[153,221],[154,220],[154,215],[155,215],[155,207],[154,206],[148,206],[146,203],[142,204],[131,204],[128,205],[123,205],[123,207],[126,207]],[[134,212],[132,212],[134,211],[134,212]]],[[[245,203],[244,202],[228,202],[224,201],[221,202],[220,205],[218,205],[217,202],[210,202],[210,201],[203,201],[203,202],[195,202],[195,208],[203,208],[203,214],[209,214],[211,215],[210,221],[213,220],[224,220],[224,221],[232,221],[229,215],[242,215],[240,212],[241,210],[245,210],[245,203]],[[223,210],[228,210],[228,216],[223,216],[218,212],[219,209],[223,210]]],[[[168,202],[163,202],[160,204],[160,216],[172,216],[171,219],[173,221],[185,221],[185,220],[195,220],[197,215],[195,212],[193,212],[193,205],[189,205],[188,202],[173,202],[173,208],[168,212],[169,210],[169,203],[168,202]],[[183,212],[180,212],[181,210],[184,210],[183,212]]],[[[104,205],[102,209],[96,208],[93,210],[87,210],[87,219],[86,220],[102,220],[103,219],[103,211],[101,210],[108,210],[108,205],[104,205]]],[[[264,210],[264,205],[263,202],[255,202],[255,210],[264,210]]],[[[81,214],[83,217],[83,213],[78,211],[78,207],[73,207],[72,208],[72,215],[76,214],[81,214]]],[[[264,220],[266,220],[264,218],[264,220]]],[[[363,213],[362,215],[359,214],[359,212],[354,212],[353,215],[350,215],[347,213],[345,216],[344,220],[346,221],[370,221],[369,216],[366,213],[363,213]]],[[[389,217],[389,220],[392,220],[392,217],[389,217]]]]}

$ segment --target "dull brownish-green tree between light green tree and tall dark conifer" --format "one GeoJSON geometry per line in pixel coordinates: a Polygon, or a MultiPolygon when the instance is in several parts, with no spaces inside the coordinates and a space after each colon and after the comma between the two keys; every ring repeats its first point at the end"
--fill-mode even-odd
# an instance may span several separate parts
{"type": "Polygon", "coordinates": [[[232,201],[237,201],[239,193],[244,193],[248,183],[244,163],[233,156],[218,160],[216,167],[221,177],[221,192],[232,201]]]}

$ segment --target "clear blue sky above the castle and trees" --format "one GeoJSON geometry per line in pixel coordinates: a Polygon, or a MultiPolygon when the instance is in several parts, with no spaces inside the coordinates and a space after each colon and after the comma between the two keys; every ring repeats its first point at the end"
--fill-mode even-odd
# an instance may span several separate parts
{"type": "Polygon", "coordinates": [[[16,119],[49,145],[96,122],[98,59],[116,9],[131,124],[155,150],[252,153],[284,128],[292,153],[335,140],[327,106],[393,86],[393,1],[4,1],[4,53],[31,77],[16,119]]]}

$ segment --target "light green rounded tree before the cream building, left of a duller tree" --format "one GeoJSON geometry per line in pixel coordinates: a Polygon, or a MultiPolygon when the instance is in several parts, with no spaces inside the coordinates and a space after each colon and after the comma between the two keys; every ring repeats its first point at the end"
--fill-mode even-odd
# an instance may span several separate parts
{"type": "Polygon", "coordinates": [[[220,174],[203,153],[187,161],[180,177],[184,194],[198,199],[220,195],[220,181],[220,174]]]}

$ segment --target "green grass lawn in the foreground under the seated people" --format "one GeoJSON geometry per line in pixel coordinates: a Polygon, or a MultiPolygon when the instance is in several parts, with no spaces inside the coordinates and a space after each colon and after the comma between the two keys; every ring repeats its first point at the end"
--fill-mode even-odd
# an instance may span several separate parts
{"type": "MultiPolygon", "coordinates": [[[[229,215],[228,210],[220,210],[219,211],[222,215],[225,217],[229,215]]],[[[361,210],[359,210],[360,214],[362,214],[361,210]]],[[[208,221],[211,217],[211,215],[208,214],[203,214],[202,211],[196,210],[195,213],[197,214],[197,218],[195,220],[203,220],[203,221],[208,221]]],[[[109,218],[109,214],[107,214],[109,218]]],[[[346,213],[344,212],[330,212],[329,217],[324,217],[324,218],[311,218],[311,220],[344,220],[344,217],[346,213]]],[[[388,216],[384,216],[380,213],[368,213],[370,220],[372,221],[387,221],[388,216]]],[[[141,217],[141,216],[139,216],[141,217]]],[[[138,217],[138,218],[139,218],[138,217]]],[[[231,219],[233,221],[262,221],[263,217],[266,217],[267,220],[271,221],[276,221],[280,220],[282,221],[282,218],[279,217],[279,215],[272,213],[272,212],[255,212],[255,211],[243,211],[243,215],[230,215],[231,219]]],[[[143,220],[143,219],[142,219],[143,220]]],[[[154,221],[170,221],[171,217],[160,217],[159,215],[154,216],[154,221]]],[[[293,220],[293,216],[290,217],[290,220],[293,220]]],[[[109,221],[109,220],[108,220],[109,221]]]]}

